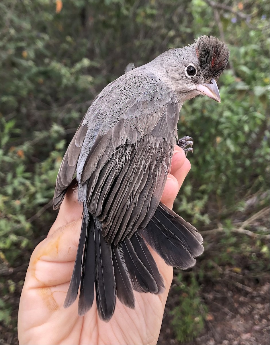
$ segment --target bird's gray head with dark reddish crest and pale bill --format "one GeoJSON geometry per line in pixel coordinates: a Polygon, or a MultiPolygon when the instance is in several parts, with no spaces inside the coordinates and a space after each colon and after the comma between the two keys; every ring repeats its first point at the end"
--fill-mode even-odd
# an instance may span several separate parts
{"type": "Polygon", "coordinates": [[[229,54],[225,43],[216,37],[200,36],[192,45],[169,49],[152,62],[154,66],[162,63],[162,79],[180,103],[197,95],[220,103],[216,81],[227,66],[229,54]]]}

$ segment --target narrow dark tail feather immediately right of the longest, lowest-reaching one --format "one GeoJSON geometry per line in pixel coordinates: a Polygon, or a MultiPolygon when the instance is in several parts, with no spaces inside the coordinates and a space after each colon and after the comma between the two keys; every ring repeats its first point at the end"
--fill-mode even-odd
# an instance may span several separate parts
{"type": "Polygon", "coordinates": [[[134,294],[120,246],[112,246],[112,262],[115,272],[116,295],[121,303],[133,309],[135,307],[134,294]]]}

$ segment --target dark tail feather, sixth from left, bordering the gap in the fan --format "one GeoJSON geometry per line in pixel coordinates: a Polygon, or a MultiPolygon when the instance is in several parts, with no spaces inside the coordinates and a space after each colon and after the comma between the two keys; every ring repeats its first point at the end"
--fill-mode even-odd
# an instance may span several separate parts
{"type": "Polygon", "coordinates": [[[147,245],[145,244],[144,239],[135,233],[130,238],[130,241],[135,250],[135,253],[138,255],[145,268],[148,269],[149,273],[154,278],[156,285],[158,286],[158,291],[156,292],[156,294],[162,293],[165,289],[163,278],[159,273],[159,269],[156,266],[155,260],[150,253],[147,245]]]}

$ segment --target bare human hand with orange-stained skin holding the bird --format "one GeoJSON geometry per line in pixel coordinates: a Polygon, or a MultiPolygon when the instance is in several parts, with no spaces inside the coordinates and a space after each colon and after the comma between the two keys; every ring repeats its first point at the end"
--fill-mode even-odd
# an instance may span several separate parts
{"type": "MultiPolygon", "coordinates": [[[[172,208],[189,170],[190,162],[176,146],[171,174],[161,198],[168,207],[172,208]]],[[[78,299],[69,308],[63,307],[77,253],[83,210],[75,192],[74,187],[69,188],[47,238],[37,245],[31,256],[20,299],[20,344],[156,344],[173,268],[151,248],[164,279],[162,294],[134,291],[135,309],[117,300],[108,323],[99,319],[95,301],[84,316],[78,316],[78,299]]]]}

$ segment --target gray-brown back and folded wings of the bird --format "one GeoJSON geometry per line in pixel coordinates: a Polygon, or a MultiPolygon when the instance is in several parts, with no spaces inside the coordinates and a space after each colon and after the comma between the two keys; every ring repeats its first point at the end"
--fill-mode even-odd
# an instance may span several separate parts
{"type": "Polygon", "coordinates": [[[154,214],[179,119],[179,106],[169,89],[153,76],[143,75],[138,82],[140,78],[128,74],[105,88],[88,110],[64,156],[54,203],[59,205],[77,168],[78,198],[114,244],[144,227],[154,214]]]}

